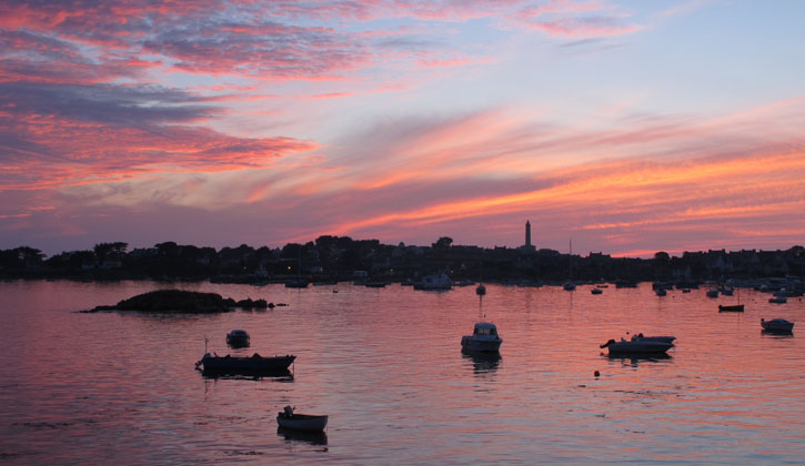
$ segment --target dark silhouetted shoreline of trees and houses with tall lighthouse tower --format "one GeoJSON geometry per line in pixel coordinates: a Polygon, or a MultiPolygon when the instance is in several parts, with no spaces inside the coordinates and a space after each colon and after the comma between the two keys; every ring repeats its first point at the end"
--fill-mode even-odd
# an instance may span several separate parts
{"type": "Polygon", "coordinates": [[[242,244],[217,251],[171,241],[131,251],[128,246],[124,242],[100,243],[91,251],[62,252],[50,257],[29,246],[3,250],[0,277],[210,280],[260,285],[300,280],[305,284],[410,283],[427,274],[444,273],[455,281],[521,285],[606,281],[630,286],[661,281],[696,286],[706,281],[805,275],[805,249],[799,245],[785,251],[710,250],[685,252],[682,256],[661,251],[652,259],[612,257],[601,252],[582,256],[536,249],[531,243],[527,222],[525,244],[520,247],[456,245],[447,236],[430,246],[419,246],[333,235],[275,249],[242,244]]]}

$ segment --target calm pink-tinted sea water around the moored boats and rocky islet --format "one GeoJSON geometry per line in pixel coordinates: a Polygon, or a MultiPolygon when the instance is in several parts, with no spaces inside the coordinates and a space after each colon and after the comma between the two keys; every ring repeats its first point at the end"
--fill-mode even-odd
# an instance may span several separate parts
{"type": "Polygon", "coordinates": [[[805,463],[799,298],[742,290],[746,312],[720,314],[737,297],[657,297],[648,284],[597,296],[487,285],[483,301],[473,286],[172,286],[289,306],[81,314],[167,285],[0,283],[0,463],[805,463]],[[482,315],[500,358],[460,352],[482,315]],[[793,335],[761,332],[778,316],[793,335]],[[228,350],[232,328],[251,348],[228,350]],[[660,359],[598,348],[626,332],[678,340],[660,359]],[[204,336],[219,354],[295,354],[294,377],[205,378],[193,368],[204,336]],[[285,405],[329,414],[326,433],[278,432],[285,405]]]}

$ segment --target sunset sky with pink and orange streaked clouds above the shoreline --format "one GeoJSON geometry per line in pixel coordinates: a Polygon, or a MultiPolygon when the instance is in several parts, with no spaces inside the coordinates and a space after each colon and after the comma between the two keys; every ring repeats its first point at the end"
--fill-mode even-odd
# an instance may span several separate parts
{"type": "Polygon", "coordinates": [[[805,2],[0,4],[0,249],[805,243],[805,2]]]}

